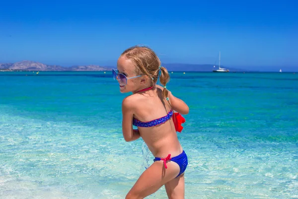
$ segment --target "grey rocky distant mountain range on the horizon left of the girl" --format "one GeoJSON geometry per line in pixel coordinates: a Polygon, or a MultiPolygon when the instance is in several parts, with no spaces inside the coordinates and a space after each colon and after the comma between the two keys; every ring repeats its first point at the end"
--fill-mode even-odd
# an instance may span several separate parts
{"type": "Polygon", "coordinates": [[[5,71],[110,71],[110,68],[97,65],[62,67],[58,65],[46,65],[33,61],[21,61],[14,64],[0,64],[0,70],[5,71]]]}

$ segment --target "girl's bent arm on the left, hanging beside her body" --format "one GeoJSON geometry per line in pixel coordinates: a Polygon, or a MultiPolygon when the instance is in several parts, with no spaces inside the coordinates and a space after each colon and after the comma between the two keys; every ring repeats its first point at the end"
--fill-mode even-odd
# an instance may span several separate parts
{"type": "Polygon", "coordinates": [[[133,129],[133,102],[129,97],[122,101],[122,133],[125,141],[134,141],[141,137],[139,130],[133,129]]]}

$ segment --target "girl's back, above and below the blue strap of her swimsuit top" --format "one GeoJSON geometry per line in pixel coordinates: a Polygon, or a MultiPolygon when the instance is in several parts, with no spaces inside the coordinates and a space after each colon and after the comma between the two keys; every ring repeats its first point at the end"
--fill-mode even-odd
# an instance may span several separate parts
{"type": "MultiPolygon", "coordinates": [[[[129,96],[134,103],[134,118],[147,122],[165,116],[172,107],[162,97],[162,89],[155,87],[146,93],[136,93],[129,96]]],[[[156,157],[173,156],[182,152],[172,118],[162,124],[152,127],[138,127],[140,135],[156,157]]]]}

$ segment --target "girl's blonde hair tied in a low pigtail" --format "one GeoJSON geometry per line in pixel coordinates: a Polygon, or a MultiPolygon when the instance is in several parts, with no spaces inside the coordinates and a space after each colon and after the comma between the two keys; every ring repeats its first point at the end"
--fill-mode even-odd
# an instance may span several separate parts
{"type": "Polygon", "coordinates": [[[147,75],[151,86],[156,84],[160,70],[159,81],[164,86],[162,96],[167,98],[168,91],[165,85],[170,81],[170,76],[166,68],[161,66],[159,58],[152,49],[137,45],[126,49],[121,56],[129,59],[136,66],[137,75],[147,75]]]}

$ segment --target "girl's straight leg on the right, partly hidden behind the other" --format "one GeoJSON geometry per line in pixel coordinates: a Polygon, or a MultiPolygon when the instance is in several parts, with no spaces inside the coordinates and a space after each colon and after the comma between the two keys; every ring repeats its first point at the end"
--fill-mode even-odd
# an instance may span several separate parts
{"type": "Polygon", "coordinates": [[[167,182],[164,187],[169,199],[184,199],[184,173],[167,182]]]}

